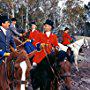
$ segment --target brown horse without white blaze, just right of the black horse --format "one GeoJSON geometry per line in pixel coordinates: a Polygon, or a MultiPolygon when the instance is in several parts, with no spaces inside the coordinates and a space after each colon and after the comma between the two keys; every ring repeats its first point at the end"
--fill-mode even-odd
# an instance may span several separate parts
{"type": "MultiPolygon", "coordinates": [[[[72,51],[71,48],[68,47],[67,51],[60,50],[56,59],[56,73],[60,78],[60,81],[63,81],[64,85],[61,85],[61,88],[65,88],[65,90],[71,90],[71,58],[72,51]],[[64,86],[64,87],[62,87],[64,86]]],[[[60,87],[59,86],[59,87],[60,87]]],[[[60,89],[60,88],[59,88],[60,89]]]]}

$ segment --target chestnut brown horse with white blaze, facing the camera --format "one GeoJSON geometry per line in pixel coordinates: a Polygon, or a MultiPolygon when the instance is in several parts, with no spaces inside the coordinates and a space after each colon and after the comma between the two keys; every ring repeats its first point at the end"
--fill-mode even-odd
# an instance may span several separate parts
{"type": "Polygon", "coordinates": [[[21,50],[19,52],[14,51],[12,49],[11,55],[7,58],[7,76],[10,81],[10,85],[13,85],[13,83],[16,83],[16,90],[26,90],[26,84],[27,84],[27,79],[29,78],[30,75],[30,70],[31,70],[31,64],[28,58],[28,55],[25,50],[21,50]],[[14,68],[13,68],[13,78],[12,77],[12,59],[15,59],[14,63],[14,68]]]}

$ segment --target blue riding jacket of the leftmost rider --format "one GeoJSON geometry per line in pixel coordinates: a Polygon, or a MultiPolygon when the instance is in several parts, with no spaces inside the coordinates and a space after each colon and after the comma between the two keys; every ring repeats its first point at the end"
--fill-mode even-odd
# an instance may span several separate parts
{"type": "Polygon", "coordinates": [[[4,52],[10,52],[10,45],[16,49],[16,44],[10,30],[7,30],[5,35],[0,28],[0,56],[3,56],[4,52]]]}

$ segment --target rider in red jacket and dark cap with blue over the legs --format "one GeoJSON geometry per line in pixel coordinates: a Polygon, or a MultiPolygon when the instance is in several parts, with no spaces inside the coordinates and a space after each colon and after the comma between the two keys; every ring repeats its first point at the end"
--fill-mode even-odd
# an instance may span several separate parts
{"type": "Polygon", "coordinates": [[[24,48],[28,54],[36,50],[36,45],[40,41],[40,31],[37,30],[36,28],[37,28],[36,22],[32,21],[29,38],[26,40],[26,43],[24,44],[24,48]]]}

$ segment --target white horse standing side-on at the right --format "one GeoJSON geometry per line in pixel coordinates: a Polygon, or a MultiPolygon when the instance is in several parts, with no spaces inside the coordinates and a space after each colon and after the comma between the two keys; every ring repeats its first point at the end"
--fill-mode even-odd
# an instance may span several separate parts
{"type": "Polygon", "coordinates": [[[61,43],[58,43],[58,45],[59,45],[59,50],[63,50],[65,52],[67,51],[68,47],[71,47],[71,49],[73,51],[73,54],[74,54],[75,66],[76,66],[76,69],[78,70],[77,60],[78,60],[79,50],[80,50],[82,45],[84,45],[85,47],[89,48],[87,39],[83,38],[83,39],[77,40],[74,43],[69,44],[67,46],[64,46],[61,43]]]}

